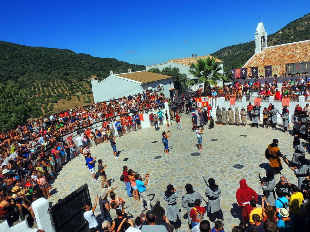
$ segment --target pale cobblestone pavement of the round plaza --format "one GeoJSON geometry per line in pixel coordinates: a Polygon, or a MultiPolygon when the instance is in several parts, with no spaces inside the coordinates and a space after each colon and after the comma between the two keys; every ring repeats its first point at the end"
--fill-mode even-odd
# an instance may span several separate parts
{"type": "MultiPolygon", "coordinates": [[[[183,113],[181,116],[183,131],[176,129],[175,121],[172,121],[172,126],[169,128],[165,124],[161,125],[159,131],[155,131],[154,127],[143,128],[141,131],[130,132],[124,137],[116,139],[117,150],[120,151],[119,159],[112,158],[113,151],[109,142],[91,148],[92,157],[97,156],[97,160],[102,159],[103,164],[107,165],[108,179],[113,182],[111,186],[118,186],[115,192],[125,199],[125,212],[131,213],[133,219],[141,211],[138,201],[127,197],[125,184],[119,180],[123,165],[127,165],[129,169],[133,169],[141,175],[150,174],[147,193],[151,199],[151,204],[153,205],[159,200],[165,210],[167,204],[163,200],[163,193],[168,184],[173,184],[180,191],[177,204],[181,209],[182,226],[178,231],[189,231],[187,219],[184,218],[186,209],[182,208],[181,204],[181,197],[186,193],[185,184],[191,183],[194,190],[207,200],[204,195],[206,184],[202,177],[205,177],[206,180],[211,177],[214,178],[221,187],[220,200],[224,213],[224,228],[231,231],[233,226],[239,224],[241,216],[236,201],[239,181],[245,178],[249,187],[253,188],[259,195],[262,194],[258,174],[260,173],[262,177],[265,176],[265,169],[269,167],[269,162],[264,157],[267,145],[272,142],[272,139],[277,138],[280,141],[281,152],[290,159],[293,154],[293,136],[289,133],[283,133],[281,127],[278,127],[277,130],[263,128],[262,122],[259,122],[259,128],[251,128],[249,122],[246,127],[215,125],[213,129],[209,130],[206,126],[202,136],[204,149],[199,151],[196,147],[197,136],[191,130],[191,115],[183,113]],[[172,132],[168,139],[170,154],[165,154],[162,132],[168,130],[172,132]],[[218,140],[211,141],[211,139],[218,140]],[[152,143],[153,141],[158,142],[152,143]],[[191,156],[191,153],[197,152],[201,155],[191,156]],[[162,157],[154,159],[155,156],[162,157]],[[123,161],[125,158],[128,160],[123,161]],[[244,167],[241,169],[232,167],[235,164],[244,165],[244,167]]],[[[306,153],[307,156],[309,157],[308,153],[306,153]]],[[[296,184],[297,178],[293,172],[286,164],[283,164],[283,168],[282,174],[288,178],[290,183],[296,184]]],[[[279,180],[279,177],[276,175],[276,181],[279,180]]],[[[92,203],[94,203],[95,194],[100,196],[102,191],[100,179],[98,183],[91,181],[91,174],[85,166],[85,159],[80,155],[60,171],[55,183],[53,183],[54,189],[51,192],[53,197],[49,201],[53,204],[57,203],[59,199],[64,198],[84,183],[88,184],[92,203]]],[[[202,205],[205,206],[206,203],[203,202],[202,205]]],[[[95,210],[95,215],[99,215],[98,218],[100,217],[99,204],[95,210]]],[[[209,220],[206,215],[205,219],[209,220]]],[[[211,228],[213,226],[214,224],[211,222],[211,228]]]]}

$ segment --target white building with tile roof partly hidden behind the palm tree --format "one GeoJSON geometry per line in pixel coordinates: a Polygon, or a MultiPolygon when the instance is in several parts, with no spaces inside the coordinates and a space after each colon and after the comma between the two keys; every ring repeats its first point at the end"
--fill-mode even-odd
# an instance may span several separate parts
{"type": "MultiPolygon", "coordinates": [[[[189,79],[193,79],[194,76],[191,75],[188,71],[188,69],[191,68],[191,64],[192,63],[196,63],[197,59],[199,58],[207,58],[209,57],[210,55],[207,55],[207,56],[197,56],[197,54],[192,55],[192,57],[188,57],[188,58],[181,58],[181,59],[174,59],[174,60],[168,60],[168,62],[166,63],[162,63],[162,64],[155,64],[155,65],[151,65],[151,66],[146,66],[145,69],[146,71],[148,71],[149,69],[151,68],[159,68],[160,71],[162,71],[163,68],[166,68],[166,67],[169,67],[171,65],[171,68],[174,68],[174,67],[178,67],[179,70],[180,70],[180,73],[185,73],[189,79]]],[[[216,59],[216,62],[223,62],[219,59],[216,59]]],[[[223,69],[223,63],[220,64],[220,66],[222,67],[222,71],[220,71],[219,73],[221,73],[223,75],[223,72],[224,72],[224,69],[223,69]]],[[[196,87],[196,90],[197,90],[197,87],[199,88],[203,88],[204,86],[204,83],[199,83],[197,86],[193,86],[192,89],[194,90],[194,87],[196,87]]],[[[223,86],[223,82],[220,81],[218,83],[218,86],[223,86]]]]}

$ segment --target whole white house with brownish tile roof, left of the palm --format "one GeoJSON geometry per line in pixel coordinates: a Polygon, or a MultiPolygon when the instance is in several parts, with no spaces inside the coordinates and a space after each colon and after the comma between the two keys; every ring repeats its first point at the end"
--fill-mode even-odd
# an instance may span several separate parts
{"type": "Polygon", "coordinates": [[[110,75],[99,83],[96,76],[91,76],[94,102],[133,96],[146,90],[154,91],[157,90],[158,85],[161,86],[161,92],[165,97],[174,97],[175,88],[172,76],[148,71],[133,72],[132,69],[120,74],[115,74],[112,70],[110,75]]]}

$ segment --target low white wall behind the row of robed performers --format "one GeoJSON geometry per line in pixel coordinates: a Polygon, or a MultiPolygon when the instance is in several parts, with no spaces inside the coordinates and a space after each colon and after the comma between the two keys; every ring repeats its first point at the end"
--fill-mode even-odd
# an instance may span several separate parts
{"type": "MultiPolygon", "coordinates": [[[[228,107],[230,106],[229,101],[224,101],[224,97],[218,97],[217,101],[216,101],[216,105],[215,105],[215,99],[213,100],[214,105],[212,106],[213,109],[213,113],[215,116],[215,109],[216,109],[216,105],[219,105],[219,107],[222,109],[223,106],[226,107],[226,110],[228,110],[228,107]]],[[[251,102],[252,105],[254,104],[254,101],[246,101],[246,97],[242,97],[242,101],[236,101],[235,102],[235,106],[232,108],[233,110],[235,110],[235,107],[238,107],[238,110],[241,111],[242,106],[245,107],[249,105],[249,102],[251,102]]],[[[271,103],[272,105],[275,106],[275,108],[277,108],[280,112],[280,114],[282,113],[282,102],[281,101],[273,101],[273,97],[269,97],[269,101],[261,101],[260,105],[262,108],[260,108],[260,113],[262,113],[264,107],[268,107],[269,103],[271,103]]],[[[290,102],[290,106],[287,107],[287,109],[290,111],[290,118],[292,117],[292,115],[294,114],[294,109],[296,107],[296,104],[299,104],[301,108],[306,106],[306,103],[304,101],[304,96],[300,96],[299,97],[299,101],[291,101],[290,102]]],[[[278,114],[278,123],[282,123],[282,119],[280,118],[280,115],[278,114]]],[[[261,117],[263,118],[262,114],[261,117]]],[[[261,119],[262,120],[262,119],[261,119]]],[[[291,121],[291,120],[290,120],[291,121]]]]}

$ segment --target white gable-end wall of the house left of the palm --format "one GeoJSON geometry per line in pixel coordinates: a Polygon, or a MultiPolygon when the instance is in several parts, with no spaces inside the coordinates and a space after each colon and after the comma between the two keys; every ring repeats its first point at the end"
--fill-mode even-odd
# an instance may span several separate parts
{"type": "Polygon", "coordinates": [[[141,83],[131,81],[118,76],[108,76],[106,79],[100,81],[95,87],[92,88],[94,102],[108,101],[113,97],[123,97],[135,95],[143,91],[141,83]]]}

